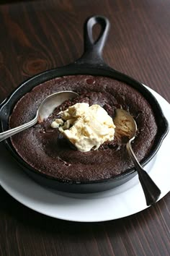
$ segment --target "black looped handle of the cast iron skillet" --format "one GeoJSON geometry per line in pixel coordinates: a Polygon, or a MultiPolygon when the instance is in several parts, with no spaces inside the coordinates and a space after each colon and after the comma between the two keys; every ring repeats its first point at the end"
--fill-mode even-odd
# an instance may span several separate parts
{"type": "Polygon", "coordinates": [[[84,24],[84,54],[76,61],[79,64],[104,64],[102,50],[109,32],[109,20],[103,16],[93,16],[86,20],[84,24]],[[97,40],[93,38],[93,27],[101,26],[97,40]]]}

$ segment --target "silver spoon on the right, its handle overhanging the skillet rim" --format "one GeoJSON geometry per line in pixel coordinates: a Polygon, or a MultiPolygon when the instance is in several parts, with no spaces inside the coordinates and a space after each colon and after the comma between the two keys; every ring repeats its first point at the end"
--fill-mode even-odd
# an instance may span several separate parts
{"type": "Polygon", "coordinates": [[[138,172],[138,178],[146,197],[146,204],[153,205],[161,195],[161,190],[156,186],[148,173],[140,165],[135,153],[133,152],[131,142],[135,139],[137,124],[135,123],[133,116],[120,108],[117,108],[116,110],[114,124],[116,126],[115,136],[117,135],[118,138],[123,137],[124,140],[126,139],[126,148],[135,165],[135,169],[138,172]]]}

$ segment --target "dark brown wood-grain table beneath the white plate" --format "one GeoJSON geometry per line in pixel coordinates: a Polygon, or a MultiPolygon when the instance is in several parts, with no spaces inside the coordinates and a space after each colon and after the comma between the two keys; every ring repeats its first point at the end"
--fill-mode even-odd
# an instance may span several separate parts
{"type": "MultiPolygon", "coordinates": [[[[3,1],[0,101],[32,75],[83,52],[84,20],[106,16],[104,60],[170,102],[170,1],[3,1]],[[5,4],[6,3],[6,4],[5,4]]],[[[164,167],[162,167],[164,168],[164,167]]],[[[170,197],[115,221],[74,223],[37,213],[0,188],[0,255],[162,255],[170,253],[170,197]]]]}

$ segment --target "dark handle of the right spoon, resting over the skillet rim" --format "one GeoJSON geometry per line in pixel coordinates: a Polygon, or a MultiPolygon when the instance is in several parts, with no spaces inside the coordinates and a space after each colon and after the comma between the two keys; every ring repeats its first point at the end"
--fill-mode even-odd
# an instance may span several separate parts
{"type": "Polygon", "coordinates": [[[133,163],[135,164],[136,170],[138,171],[138,178],[146,197],[146,204],[153,205],[158,200],[158,197],[161,195],[161,190],[156,186],[151,177],[142,168],[142,166],[140,166],[140,163],[138,162],[138,159],[136,158],[135,153],[133,152],[131,141],[132,140],[129,140],[129,142],[126,145],[126,148],[130,155],[130,158],[133,160],[133,163]]]}

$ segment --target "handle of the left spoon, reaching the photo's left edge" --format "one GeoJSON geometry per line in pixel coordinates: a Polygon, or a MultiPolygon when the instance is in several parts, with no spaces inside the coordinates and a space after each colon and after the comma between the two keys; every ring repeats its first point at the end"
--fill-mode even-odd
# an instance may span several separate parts
{"type": "Polygon", "coordinates": [[[9,129],[5,132],[1,132],[0,133],[0,142],[2,140],[6,140],[7,138],[11,137],[12,135],[16,135],[18,132],[22,132],[24,129],[32,127],[36,123],[37,123],[37,118],[35,117],[35,119],[32,119],[31,121],[27,122],[26,124],[22,124],[19,127],[9,129]]]}

